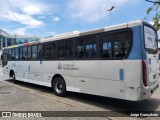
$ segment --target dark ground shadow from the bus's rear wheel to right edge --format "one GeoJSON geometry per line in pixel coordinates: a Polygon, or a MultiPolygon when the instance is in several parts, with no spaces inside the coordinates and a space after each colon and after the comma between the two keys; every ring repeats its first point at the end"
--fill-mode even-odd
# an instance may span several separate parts
{"type": "Polygon", "coordinates": [[[116,98],[94,96],[82,93],[69,93],[69,98],[113,111],[155,111],[160,106],[160,99],[147,101],[127,101],[116,98]]]}

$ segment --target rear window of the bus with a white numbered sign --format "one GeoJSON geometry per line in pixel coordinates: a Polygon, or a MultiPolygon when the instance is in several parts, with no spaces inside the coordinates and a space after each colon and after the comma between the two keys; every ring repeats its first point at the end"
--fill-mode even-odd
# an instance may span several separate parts
{"type": "Polygon", "coordinates": [[[158,37],[157,31],[151,27],[144,26],[145,48],[149,54],[157,54],[158,37]]]}

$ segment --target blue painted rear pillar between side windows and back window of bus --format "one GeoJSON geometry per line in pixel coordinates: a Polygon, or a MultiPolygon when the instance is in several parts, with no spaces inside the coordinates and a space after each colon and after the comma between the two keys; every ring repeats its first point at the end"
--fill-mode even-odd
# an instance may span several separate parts
{"type": "Polygon", "coordinates": [[[133,30],[133,46],[128,56],[129,60],[146,59],[146,50],[144,48],[143,29],[141,26],[132,28],[133,30]]]}

